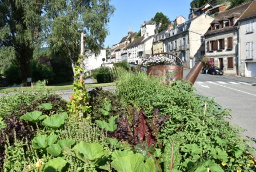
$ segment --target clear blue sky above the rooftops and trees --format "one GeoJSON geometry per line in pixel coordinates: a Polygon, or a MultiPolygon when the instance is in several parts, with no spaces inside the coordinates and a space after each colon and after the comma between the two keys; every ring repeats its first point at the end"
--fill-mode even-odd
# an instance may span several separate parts
{"type": "Polygon", "coordinates": [[[170,21],[182,15],[186,21],[189,16],[191,0],[111,0],[115,7],[114,14],[110,18],[108,27],[109,35],[105,39],[104,46],[109,47],[119,43],[127,36],[129,27],[131,31],[138,32],[143,21],[149,21],[157,12],[162,12],[170,21]]]}

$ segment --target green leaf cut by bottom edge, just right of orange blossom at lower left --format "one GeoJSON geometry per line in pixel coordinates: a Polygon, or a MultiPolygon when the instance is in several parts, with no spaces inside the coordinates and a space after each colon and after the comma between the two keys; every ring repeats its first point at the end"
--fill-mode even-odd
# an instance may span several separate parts
{"type": "Polygon", "coordinates": [[[67,161],[61,157],[51,159],[45,163],[45,166],[40,169],[40,172],[61,172],[66,166],[66,163],[67,161]]]}

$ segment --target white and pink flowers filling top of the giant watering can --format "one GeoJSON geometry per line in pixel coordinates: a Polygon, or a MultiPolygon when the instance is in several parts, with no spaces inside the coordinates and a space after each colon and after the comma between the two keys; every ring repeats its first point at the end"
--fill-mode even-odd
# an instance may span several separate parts
{"type": "Polygon", "coordinates": [[[147,59],[147,62],[145,64],[146,66],[150,65],[176,65],[175,61],[173,59],[167,58],[167,57],[149,57],[147,59]]]}

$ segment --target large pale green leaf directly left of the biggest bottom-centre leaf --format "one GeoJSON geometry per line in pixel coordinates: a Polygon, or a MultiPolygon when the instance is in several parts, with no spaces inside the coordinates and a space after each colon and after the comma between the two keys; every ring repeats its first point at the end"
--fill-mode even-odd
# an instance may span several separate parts
{"type": "Polygon", "coordinates": [[[105,155],[103,147],[99,143],[80,142],[72,150],[78,159],[83,162],[89,161],[93,165],[97,165],[105,155]]]}

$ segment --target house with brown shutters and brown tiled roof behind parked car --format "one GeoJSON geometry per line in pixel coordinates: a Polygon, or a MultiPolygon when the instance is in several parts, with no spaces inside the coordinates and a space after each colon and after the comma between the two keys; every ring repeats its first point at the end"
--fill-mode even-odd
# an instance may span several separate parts
{"type": "Polygon", "coordinates": [[[205,34],[206,56],[225,74],[238,75],[237,20],[250,3],[219,13],[205,34]]]}

